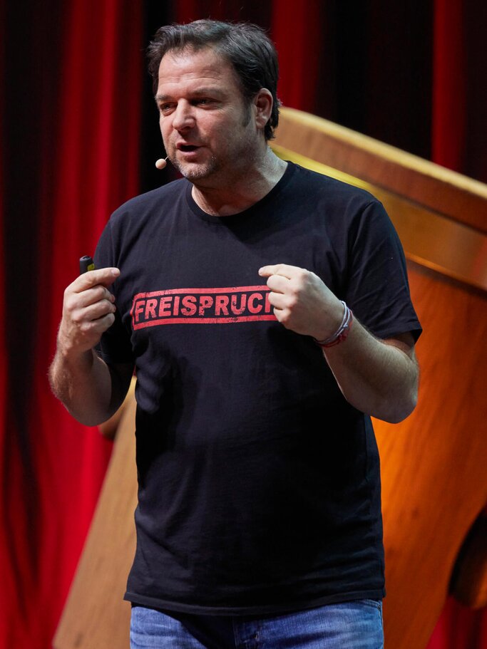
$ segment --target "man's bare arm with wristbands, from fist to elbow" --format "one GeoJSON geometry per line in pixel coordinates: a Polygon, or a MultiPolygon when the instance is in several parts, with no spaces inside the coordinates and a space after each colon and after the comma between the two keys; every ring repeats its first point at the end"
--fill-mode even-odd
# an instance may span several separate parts
{"type": "MultiPolygon", "coordinates": [[[[259,273],[268,278],[270,303],[285,327],[317,340],[337,331],[342,303],[317,275],[287,264],[259,273]]],[[[323,352],[342,394],[358,410],[394,423],[414,410],[419,369],[410,333],[381,341],[355,319],[347,340],[323,352]]]]}

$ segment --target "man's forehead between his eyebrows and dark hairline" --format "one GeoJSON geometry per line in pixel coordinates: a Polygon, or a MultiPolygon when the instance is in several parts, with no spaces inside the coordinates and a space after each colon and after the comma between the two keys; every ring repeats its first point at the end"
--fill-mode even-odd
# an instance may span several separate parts
{"type": "Polygon", "coordinates": [[[210,48],[165,53],[159,64],[158,94],[198,85],[240,92],[237,74],[227,59],[210,48]]]}

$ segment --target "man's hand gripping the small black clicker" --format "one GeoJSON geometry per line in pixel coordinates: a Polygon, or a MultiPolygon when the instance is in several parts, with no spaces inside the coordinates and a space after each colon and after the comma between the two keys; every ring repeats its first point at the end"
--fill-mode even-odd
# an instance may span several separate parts
{"type": "Polygon", "coordinates": [[[115,321],[115,298],[108,287],[119,275],[118,268],[88,271],[67,287],[58,331],[59,351],[78,354],[98,344],[115,321]]]}

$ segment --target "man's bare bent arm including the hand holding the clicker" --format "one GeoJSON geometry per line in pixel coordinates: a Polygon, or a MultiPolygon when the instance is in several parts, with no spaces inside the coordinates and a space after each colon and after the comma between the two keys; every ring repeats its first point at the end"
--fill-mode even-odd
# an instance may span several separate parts
{"type": "Polygon", "coordinates": [[[92,426],[106,421],[121,405],[130,385],[133,365],[108,365],[93,351],[115,320],[114,298],[108,286],[118,269],[90,271],[64,292],[63,317],[56,355],[49,369],[53,393],[79,422],[92,426]]]}

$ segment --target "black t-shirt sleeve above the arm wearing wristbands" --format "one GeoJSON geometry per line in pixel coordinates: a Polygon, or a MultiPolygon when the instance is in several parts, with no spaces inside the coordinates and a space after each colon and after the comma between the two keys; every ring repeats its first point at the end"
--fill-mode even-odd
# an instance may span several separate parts
{"type": "Polygon", "coordinates": [[[411,332],[421,325],[411,303],[406,259],[389,216],[376,200],[349,231],[349,271],[344,296],[354,316],[378,338],[411,332]]]}

